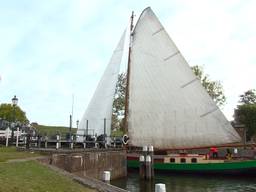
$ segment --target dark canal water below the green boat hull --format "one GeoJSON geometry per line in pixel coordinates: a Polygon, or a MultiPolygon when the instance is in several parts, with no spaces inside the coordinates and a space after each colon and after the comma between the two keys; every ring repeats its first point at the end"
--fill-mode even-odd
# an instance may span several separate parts
{"type": "Polygon", "coordinates": [[[131,192],[154,192],[155,183],[164,183],[167,192],[256,192],[256,177],[170,175],[157,173],[152,182],[142,181],[137,172],[111,182],[131,192]]]}

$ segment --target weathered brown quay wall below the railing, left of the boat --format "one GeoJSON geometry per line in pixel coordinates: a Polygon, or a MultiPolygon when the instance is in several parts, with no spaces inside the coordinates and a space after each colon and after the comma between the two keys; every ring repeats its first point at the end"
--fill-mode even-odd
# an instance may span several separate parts
{"type": "Polygon", "coordinates": [[[64,169],[80,177],[101,180],[104,171],[110,171],[111,180],[127,176],[126,152],[124,150],[100,150],[51,154],[50,165],[64,169]]]}

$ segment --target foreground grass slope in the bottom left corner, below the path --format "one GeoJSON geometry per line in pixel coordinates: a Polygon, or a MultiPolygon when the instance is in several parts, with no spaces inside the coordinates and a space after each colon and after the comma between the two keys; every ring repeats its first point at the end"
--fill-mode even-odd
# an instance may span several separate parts
{"type": "Polygon", "coordinates": [[[95,192],[36,161],[0,163],[0,191],[95,192]]]}

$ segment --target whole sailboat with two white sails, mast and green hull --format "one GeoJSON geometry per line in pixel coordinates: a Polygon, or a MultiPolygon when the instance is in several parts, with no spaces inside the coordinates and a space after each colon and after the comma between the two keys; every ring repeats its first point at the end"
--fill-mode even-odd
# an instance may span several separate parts
{"type": "MultiPolygon", "coordinates": [[[[124,36],[86,109],[78,134],[85,130],[88,134],[90,128],[97,135],[110,135],[124,36]]],[[[143,10],[135,27],[133,14],[131,17],[125,127],[129,146],[154,146],[159,150],[206,148],[240,141],[150,7],[143,10]]],[[[167,154],[155,158],[154,168],[168,171],[256,169],[255,160],[209,159],[205,154],[167,154]]],[[[127,165],[139,167],[139,156],[128,154],[127,165]]]]}

